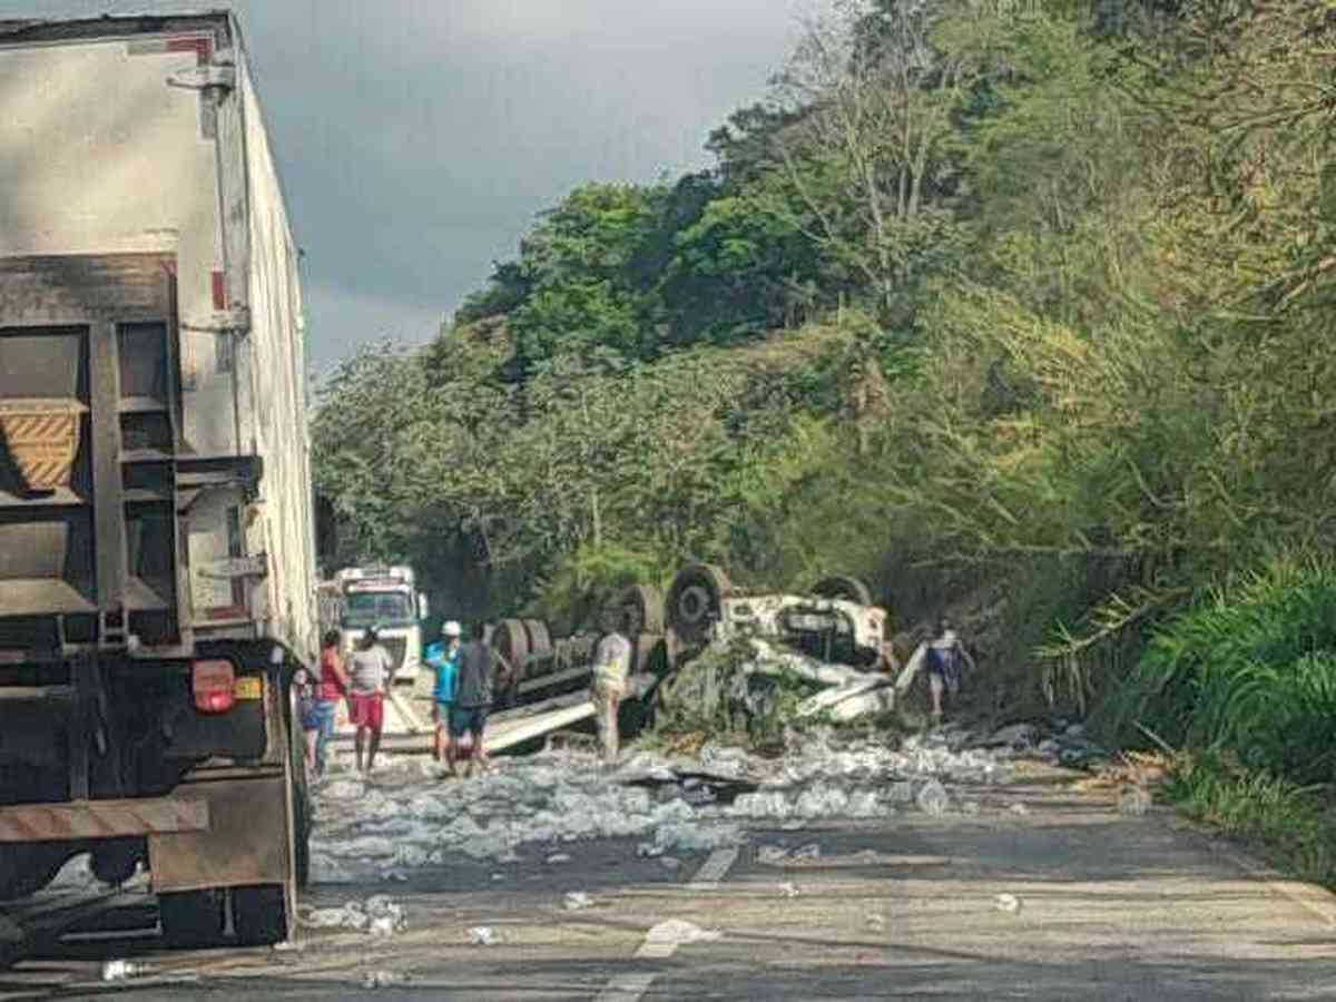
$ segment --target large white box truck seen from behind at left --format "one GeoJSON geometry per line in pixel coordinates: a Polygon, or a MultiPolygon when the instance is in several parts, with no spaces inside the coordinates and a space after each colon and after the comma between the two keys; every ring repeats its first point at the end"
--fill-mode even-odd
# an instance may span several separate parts
{"type": "Polygon", "coordinates": [[[293,239],[238,23],[0,20],[0,900],[294,925],[317,647],[293,239]]]}

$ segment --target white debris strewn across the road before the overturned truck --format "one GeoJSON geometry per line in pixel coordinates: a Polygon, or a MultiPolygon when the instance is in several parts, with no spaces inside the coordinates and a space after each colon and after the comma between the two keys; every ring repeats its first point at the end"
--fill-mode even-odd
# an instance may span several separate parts
{"type": "Polygon", "coordinates": [[[639,752],[609,770],[542,754],[497,759],[493,771],[465,780],[397,756],[369,783],[341,775],[317,786],[311,879],[405,880],[470,859],[558,864],[570,860],[565,846],[607,838],[639,836],[636,851],[649,858],[709,852],[743,844],[756,822],[795,830],[915,807],[939,815],[953,804],[943,780],[989,786],[1007,775],[1009,748],[959,745],[929,735],[892,748],[839,741],[819,728],[791,736],[778,759],[707,744],[692,760],[639,752]]]}

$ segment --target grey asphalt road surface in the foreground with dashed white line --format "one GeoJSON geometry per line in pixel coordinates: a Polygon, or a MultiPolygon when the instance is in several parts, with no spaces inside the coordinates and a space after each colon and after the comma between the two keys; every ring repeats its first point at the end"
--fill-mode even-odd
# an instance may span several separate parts
{"type": "Polygon", "coordinates": [[[171,954],[151,939],[53,945],[0,973],[0,998],[106,989],[174,1002],[386,991],[619,1002],[1336,997],[1336,903],[1325,892],[1250,871],[1172,812],[1120,816],[1112,796],[1073,794],[1059,774],[978,799],[974,816],[754,828],[736,858],[683,856],[676,870],[637,858],[635,840],[605,840],[569,846],[565,863],[530,854],[414,883],[321,887],[319,906],[389,892],[407,929],[383,941],[311,931],[291,953],[171,954]],[[812,842],[816,859],[758,860],[760,846],[812,842]],[[593,906],[565,910],[568,891],[588,892],[593,906]],[[999,894],[1019,908],[999,907],[999,894]],[[717,938],[676,947],[647,939],[671,919],[717,938]],[[469,945],[476,926],[500,942],[469,945]],[[146,974],[94,985],[91,958],[110,955],[147,965],[146,974]],[[365,987],[375,971],[406,981],[365,987]]]}

